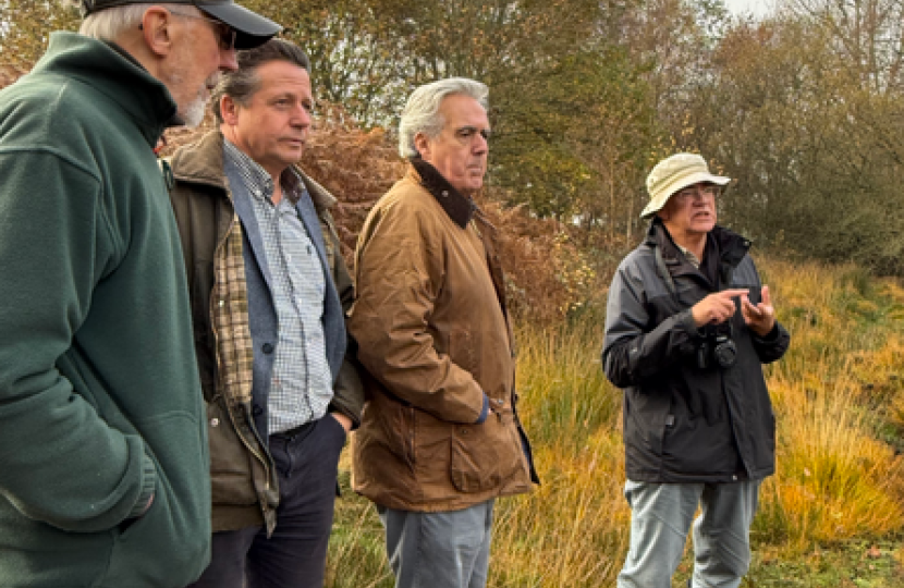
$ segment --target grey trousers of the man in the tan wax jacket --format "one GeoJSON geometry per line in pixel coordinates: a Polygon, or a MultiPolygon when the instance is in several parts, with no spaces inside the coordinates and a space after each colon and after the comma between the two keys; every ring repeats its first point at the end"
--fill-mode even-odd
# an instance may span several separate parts
{"type": "Polygon", "coordinates": [[[484,588],[492,509],[492,500],[442,513],[378,505],[395,588],[484,588]]]}

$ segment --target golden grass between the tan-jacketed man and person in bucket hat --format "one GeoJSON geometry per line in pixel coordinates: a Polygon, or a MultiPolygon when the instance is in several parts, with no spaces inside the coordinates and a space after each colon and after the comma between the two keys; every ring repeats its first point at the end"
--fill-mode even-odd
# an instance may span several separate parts
{"type": "Polygon", "coordinates": [[[621,566],[621,393],[600,370],[601,338],[594,321],[520,330],[521,413],[542,483],[498,503],[491,586],[601,586],[621,566]]]}

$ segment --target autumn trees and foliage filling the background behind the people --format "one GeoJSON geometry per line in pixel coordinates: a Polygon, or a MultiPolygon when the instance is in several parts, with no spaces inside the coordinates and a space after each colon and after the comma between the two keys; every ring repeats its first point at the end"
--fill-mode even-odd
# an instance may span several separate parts
{"type": "MultiPolygon", "coordinates": [[[[656,161],[692,150],[736,180],[720,221],[758,244],[904,273],[902,0],[780,0],[761,21],[722,0],[243,3],[308,51],[343,123],[391,136],[417,85],[487,83],[493,197],[601,255],[639,238],[656,161]]],[[[27,68],[77,22],[0,0],[0,64],[27,68]]]]}

